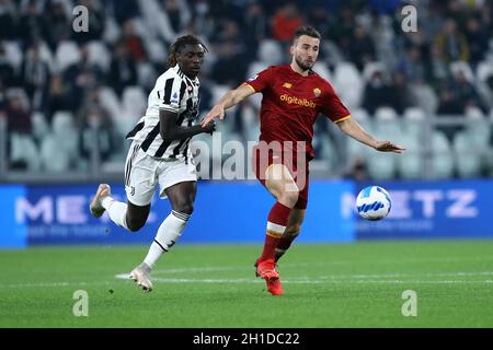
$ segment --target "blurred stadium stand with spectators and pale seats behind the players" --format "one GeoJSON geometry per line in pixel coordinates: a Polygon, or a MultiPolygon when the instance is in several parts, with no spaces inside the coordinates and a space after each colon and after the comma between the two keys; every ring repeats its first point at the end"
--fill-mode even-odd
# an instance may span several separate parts
{"type": "MultiPolygon", "coordinates": [[[[313,177],[492,176],[491,1],[1,0],[0,179],[121,180],[124,136],[179,35],[196,34],[210,50],[199,77],[206,113],[228,89],[288,62],[301,24],[321,32],[314,70],[353,117],[408,148],[379,154],[319,118],[313,177]],[[417,10],[416,32],[402,30],[406,4],[417,10]],[[72,30],[77,5],[88,9],[88,32],[72,30]]],[[[228,112],[222,144],[257,139],[260,98],[228,112]]],[[[227,158],[217,149],[209,161],[227,158]]]]}

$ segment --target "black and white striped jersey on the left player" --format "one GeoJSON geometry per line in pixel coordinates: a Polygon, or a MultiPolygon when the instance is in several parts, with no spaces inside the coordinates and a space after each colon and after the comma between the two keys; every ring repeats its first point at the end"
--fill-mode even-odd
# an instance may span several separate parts
{"type": "Polygon", "coordinates": [[[177,114],[176,125],[192,127],[198,118],[198,79],[191,80],[176,65],[156,81],[149,94],[146,115],[128,132],[127,139],[136,140],[147,154],[154,158],[188,158],[191,138],[164,142],[159,133],[159,110],[177,114]]]}

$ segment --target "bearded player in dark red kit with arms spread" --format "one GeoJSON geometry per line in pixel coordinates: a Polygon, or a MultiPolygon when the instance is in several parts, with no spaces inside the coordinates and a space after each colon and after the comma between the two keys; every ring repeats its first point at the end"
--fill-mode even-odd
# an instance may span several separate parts
{"type": "Polygon", "coordinates": [[[381,152],[404,149],[368,135],[342,104],[332,85],[313,72],[320,34],[302,26],[295,32],[290,65],[265,69],[236,90],[227,92],[206,115],[203,126],[222,119],[228,109],[254,93],[262,93],[261,136],[253,152],[255,176],[276,198],[267,219],[256,276],[265,279],[273,295],[283,293],[277,260],[298,236],[308,202],[309,161],[313,159],[313,124],[319,114],[329,117],[346,135],[381,152]]]}

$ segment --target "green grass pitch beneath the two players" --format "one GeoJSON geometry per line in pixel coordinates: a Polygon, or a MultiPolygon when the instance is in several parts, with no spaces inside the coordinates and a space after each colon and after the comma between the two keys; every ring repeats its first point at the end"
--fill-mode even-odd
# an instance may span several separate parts
{"type": "Polygon", "coordinates": [[[254,277],[260,250],[177,244],[151,293],[116,278],[145,246],[1,250],[0,327],[493,327],[493,241],[298,244],[280,261],[283,296],[254,277]],[[77,290],[88,317],[73,315],[77,290]],[[402,315],[405,290],[416,316],[402,315]]]}

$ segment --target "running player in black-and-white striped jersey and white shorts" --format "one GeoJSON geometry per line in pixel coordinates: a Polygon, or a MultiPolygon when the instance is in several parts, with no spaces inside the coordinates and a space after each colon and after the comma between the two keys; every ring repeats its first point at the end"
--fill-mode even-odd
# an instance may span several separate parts
{"type": "Polygon", "coordinates": [[[138,231],[147,221],[158,185],[160,198],[170,199],[171,213],[160,225],[144,261],[130,273],[148,292],[152,290],[152,267],[176,243],[193,211],[197,173],[190,141],[202,132],[211,135],[216,128],[214,124],[197,124],[197,74],[206,51],[205,45],[192,35],[171,45],[168,70],[149,94],[146,115],[127,135],[134,140],[125,164],[127,202],[116,201],[110,186],[101,184],[90,205],[95,218],[106,210],[117,225],[138,231]]]}

